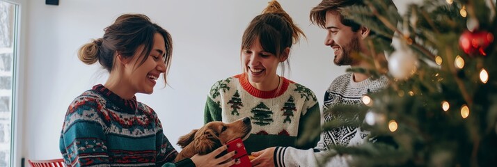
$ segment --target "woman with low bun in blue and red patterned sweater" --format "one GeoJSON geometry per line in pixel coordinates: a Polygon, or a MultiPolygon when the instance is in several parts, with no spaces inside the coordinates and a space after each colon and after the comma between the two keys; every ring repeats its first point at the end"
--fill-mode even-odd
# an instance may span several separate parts
{"type": "Polygon", "coordinates": [[[88,65],[100,63],[109,72],[98,84],[74,99],[65,114],[60,150],[66,166],[231,166],[235,152],[215,158],[196,154],[173,164],[178,152],[169,143],[157,114],[136,101],[151,94],[171,64],[171,35],[145,15],[121,15],[104,29],[102,38],[79,49],[88,65]],[[227,161],[224,164],[223,161],[227,161]],[[221,164],[221,165],[219,165],[221,164]]]}

